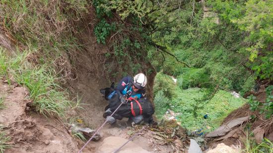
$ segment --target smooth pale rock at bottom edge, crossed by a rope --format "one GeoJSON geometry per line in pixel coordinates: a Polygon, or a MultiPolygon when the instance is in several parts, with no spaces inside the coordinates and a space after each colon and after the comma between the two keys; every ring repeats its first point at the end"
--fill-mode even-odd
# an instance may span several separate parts
{"type": "MultiPolygon", "coordinates": [[[[96,153],[113,153],[122,145],[124,145],[128,140],[120,137],[108,137],[103,140],[101,146],[96,151],[96,153]]],[[[150,153],[137,144],[129,142],[126,144],[119,153],[150,153]]]]}

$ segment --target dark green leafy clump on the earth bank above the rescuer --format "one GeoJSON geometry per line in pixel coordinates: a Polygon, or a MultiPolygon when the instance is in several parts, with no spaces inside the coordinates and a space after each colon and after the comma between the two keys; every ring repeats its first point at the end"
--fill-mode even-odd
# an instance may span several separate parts
{"type": "Polygon", "coordinates": [[[103,43],[105,45],[106,37],[116,29],[115,23],[107,23],[105,19],[100,20],[100,22],[95,26],[94,33],[98,43],[103,43]]]}

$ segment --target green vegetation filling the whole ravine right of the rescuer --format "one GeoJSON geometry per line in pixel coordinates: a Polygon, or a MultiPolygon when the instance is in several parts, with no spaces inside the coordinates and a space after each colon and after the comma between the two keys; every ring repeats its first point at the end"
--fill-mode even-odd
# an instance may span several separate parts
{"type": "MultiPolygon", "coordinates": [[[[168,83],[156,78],[155,106],[161,106],[159,97],[168,98],[168,107],[181,113],[178,120],[184,127],[212,130],[245,103],[241,98],[234,99],[230,92],[244,96],[272,82],[273,4],[270,0],[174,3],[168,7],[175,11],[164,11],[155,20],[155,48],[149,48],[148,57],[157,72],[176,76],[178,87],[170,89],[174,97],[166,91],[159,94],[160,83],[156,81],[168,83]],[[209,118],[205,120],[206,113],[209,118]]],[[[265,103],[255,101],[255,97],[249,102],[252,110],[259,110],[267,118],[272,117],[273,110],[269,90],[265,103]]]]}

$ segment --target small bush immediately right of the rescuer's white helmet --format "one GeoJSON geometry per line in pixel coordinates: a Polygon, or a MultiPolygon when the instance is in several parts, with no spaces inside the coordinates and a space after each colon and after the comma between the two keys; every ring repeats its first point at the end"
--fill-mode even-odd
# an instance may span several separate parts
{"type": "Polygon", "coordinates": [[[164,96],[171,99],[175,97],[174,94],[174,81],[170,76],[164,75],[163,73],[157,73],[154,79],[153,92],[156,95],[159,91],[164,93],[164,96]]]}

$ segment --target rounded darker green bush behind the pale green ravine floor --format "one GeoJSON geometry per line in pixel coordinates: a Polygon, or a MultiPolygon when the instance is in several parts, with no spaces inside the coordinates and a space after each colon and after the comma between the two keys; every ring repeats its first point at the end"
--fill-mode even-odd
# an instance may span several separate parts
{"type": "Polygon", "coordinates": [[[189,87],[209,87],[209,73],[205,69],[184,68],[183,74],[178,76],[178,85],[182,89],[189,87]]]}

